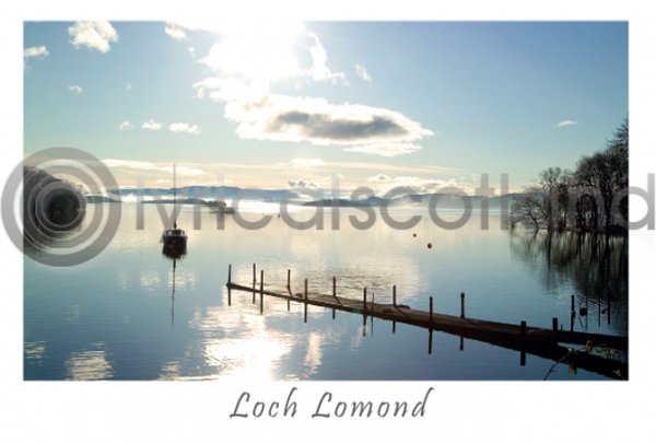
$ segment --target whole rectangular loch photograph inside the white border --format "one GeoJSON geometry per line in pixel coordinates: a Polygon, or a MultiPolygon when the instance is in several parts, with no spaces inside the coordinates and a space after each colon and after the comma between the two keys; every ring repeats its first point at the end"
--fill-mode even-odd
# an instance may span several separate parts
{"type": "Polygon", "coordinates": [[[26,381],[626,381],[626,22],[25,22],[26,381]]]}

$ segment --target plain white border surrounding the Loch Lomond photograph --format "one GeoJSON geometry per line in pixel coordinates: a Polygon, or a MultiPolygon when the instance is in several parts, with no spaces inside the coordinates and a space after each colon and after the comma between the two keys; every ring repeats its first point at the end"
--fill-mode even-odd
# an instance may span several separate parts
{"type": "MultiPolygon", "coordinates": [[[[0,7],[0,179],[22,160],[23,21],[171,20],[257,14],[303,20],[629,20],[631,183],[646,187],[656,171],[656,26],[643,1],[458,1],[436,4],[373,1],[4,1],[0,7]],[[316,3],[316,2],[313,2],[316,3]],[[389,3],[389,2],[388,2],[389,3]]],[[[652,206],[656,202],[651,202],[652,206]]],[[[632,220],[645,203],[632,200],[632,220]]],[[[628,383],[24,383],[23,282],[20,252],[0,234],[0,442],[2,443],[285,443],[396,442],[654,442],[654,231],[631,233],[630,382],[628,383]],[[284,401],[298,387],[296,418],[229,419],[238,395],[284,401]],[[344,400],[420,399],[435,387],[426,417],[309,419],[320,395],[344,400]]]]}

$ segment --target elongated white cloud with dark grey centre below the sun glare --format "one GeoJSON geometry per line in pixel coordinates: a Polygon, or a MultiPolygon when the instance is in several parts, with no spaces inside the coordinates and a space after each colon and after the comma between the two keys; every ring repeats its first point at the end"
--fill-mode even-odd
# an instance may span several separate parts
{"type": "MultiPolygon", "coordinates": [[[[348,147],[401,143],[396,154],[417,151],[419,148],[409,147],[408,142],[433,135],[397,112],[365,105],[333,105],[315,97],[268,95],[253,102],[232,102],[225,106],[225,117],[238,124],[237,135],[242,139],[348,147]]],[[[396,154],[387,148],[384,155],[396,154]]]]}

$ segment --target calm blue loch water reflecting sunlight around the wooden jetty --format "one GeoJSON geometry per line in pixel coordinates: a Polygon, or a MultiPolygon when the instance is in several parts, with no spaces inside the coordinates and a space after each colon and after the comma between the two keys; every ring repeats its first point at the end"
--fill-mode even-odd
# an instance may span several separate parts
{"type": "MultiPolygon", "coordinates": [[[[176,261],[173,295],[173,261],[161,254],[156,209],[147,206],[145,230],[137,231],[136,208],[125,205],[119,232],[92,261],[57,269],[25,259],[25,378],[542,379],[553,365],[528,355],[520,366],[518,352],[467,339],[459,350],[459,337],[437,331],[429,354],[426,330],[397,325],[393,334],[389,322],[363,327],[359,315],[332,319],[330,309],[312,306],[305,324],[302,305],[288,312],[286,302],[272,297],[263,315],[250,294],[233,293],[229,306],[229,264],[233,281],[244,284],[256,262],[258,276],[262,268],[265,281],[278,287],[290,268],[294,291],[308,278],[311,291],[327,292],[336,276],[341,295],[361,297],[367,287],[376,302],[391,302],[397,284],[399,303],[427,309],[432,295],[435,311],[445,314],[459,314],[465,292],[468,317],[547,328],[554,316],[570,327],[575,294],[577,309],[588,307],[576,330],[626,334],[621,239],[608,247],[573,234],[549,242],[502,231],[496,217],[488,231],[479,217],[445,231],[425,214],[410,231],[379,218],[358,231],[348,221],[358,210],[341,213],[339,231],[296,231],[277,218],[246,231],[230,215],[216,230],[209,212],[192,231],[192,213],[183,211],[188,255],[176,261]]],[[[561,364],[549,378],[602,376],[561,364]]]]}

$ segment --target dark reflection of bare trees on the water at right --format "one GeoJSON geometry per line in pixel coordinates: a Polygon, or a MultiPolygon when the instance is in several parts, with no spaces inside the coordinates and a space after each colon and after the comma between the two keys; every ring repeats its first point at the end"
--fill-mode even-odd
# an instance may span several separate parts
{"type": "Polygon", "coordinates": [[[513,233],[511,252],[530,266],[547,289],[573,284],[576,328],[590,318],[628,332],[628,238],[591,233],[513,233]]]}

